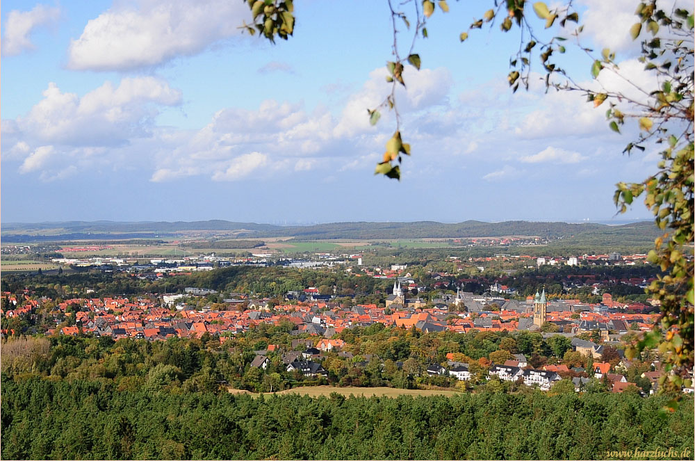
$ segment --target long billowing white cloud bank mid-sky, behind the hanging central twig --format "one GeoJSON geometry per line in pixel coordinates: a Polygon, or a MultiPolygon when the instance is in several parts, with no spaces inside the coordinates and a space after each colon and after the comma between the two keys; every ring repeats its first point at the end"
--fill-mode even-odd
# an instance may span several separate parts
{"type": "MultiPolygon", "coordinates": [[[[415,71],[406,76],[409,87],[398,96],[404,113],[441,104],[448,92],[448,71],[420,72],[423,76],[418,77],[415,71]]],[[[393,129],[389,114],[384,113],[377,127],[369,124],[367,115],[367,108],[374,107],[389,92],[385,74],[382,69],[373,71],[363,88],[348,97],[338,118],[327,108],[309,113],[301,104],[272,99],[262,102],[255,111],[222,109],[188,141],[157,155],[158,168],[152,181],[191,175],[210,175],[218,181],[240,179],[247,176],[244,172],[252,161],[261,161],[259,156],[244,157],[254,152],[263,152],[265,176],[286,175],[328,163],[356,168],[362,165],[366,152],[371,156],[384,148],[393,129]]]]}

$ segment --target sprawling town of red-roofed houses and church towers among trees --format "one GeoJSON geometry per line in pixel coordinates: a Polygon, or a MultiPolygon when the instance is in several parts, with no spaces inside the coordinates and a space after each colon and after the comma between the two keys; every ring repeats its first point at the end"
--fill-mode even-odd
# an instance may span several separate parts
{"type": "Polygon", "coordinates": [[[250,391],[296,385],[463,391],[525,386],[541,391],[603,387],[646,396],[658,390],[659,354],[645,351],[630,358],[625,353],[640,332],[653,329],[658,302],[633,300],[639,295],[614,299],[610,293],[611,288],[644,293],[655,280],[634,276],[652,270],[644,254],[456,257],[443,261],[450,272],[409,264],[366,266],[363,254],[273,256],[55,259],[74,277],[101,274],[154,289],[137,296],[94,296],[95,288],[87,285],[81,289],[85,296],[70,296],[77,290],[59,284],[40,289],[44,296],[29,287],[3,291],[2,334],[109,338],[115,344],[202,341],[210,350],[239,357],[233,372],[214,376],[217,385],[250,391]],[[577,273],[580,268],[588,273],[577,273]],[[606,268],[626,272],[607,275],[606,268]],[[284,283],[270,280],[243,291],[213,289],[204,282],[181,287],[202,280],[195,277],[220,273],[218,278],[231,279],[237,273],[224,271],[249,270],[251,278],[280,270],[271,275],[284,283]],[[288,273],[332,282],[299,286],[300,280],[286,282],[288,273]],[[532,286],[530,274],[537,279],[532,286]],[[367,280],[368,285],[352,285],[367,280]],[[421,338],[446,345],[430,344],[417,353],[421,338]],[[402,350],[394,352],[395,341],[404,343],[402,350]],[[467,346],[468,341],[486,346],[467,346]]]}

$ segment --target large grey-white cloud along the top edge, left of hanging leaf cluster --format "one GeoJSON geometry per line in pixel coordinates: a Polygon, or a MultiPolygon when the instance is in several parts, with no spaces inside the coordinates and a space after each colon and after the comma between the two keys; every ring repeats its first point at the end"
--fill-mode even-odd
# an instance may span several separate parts
{"type": "Polygon", "coordinates": [[[68,67],[130,70],[190,56],[232,35],[250,21],[245,2],[137,0],[91,19],[70,42],[68,67]]]}

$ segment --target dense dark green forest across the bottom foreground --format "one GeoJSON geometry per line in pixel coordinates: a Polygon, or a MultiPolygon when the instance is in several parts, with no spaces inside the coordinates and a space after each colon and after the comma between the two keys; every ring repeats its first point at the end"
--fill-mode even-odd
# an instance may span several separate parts
{"type": "Polygon", "coordinates": [[[692,459],[693,405],[665,397],[461,394],[344,398],[119,391],[3,379],[3,459],[692,459]],[[689,451],[689,452],[687,452],[689,451]]]}

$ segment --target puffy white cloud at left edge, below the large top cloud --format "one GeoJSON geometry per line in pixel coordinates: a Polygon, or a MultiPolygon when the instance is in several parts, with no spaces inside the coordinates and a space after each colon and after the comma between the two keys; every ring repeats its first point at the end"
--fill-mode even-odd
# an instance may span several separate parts
{"type": "Polygon", "coordinates": [[[178,136],[167,140],[170,134],[154,121],[161,106],[180,102],[179,90],[154,77],[126,78],[118,86],[107,81],[82,97],[49,83],[26,115],[3,120],[3,161],[21,162],[19,172],[36,172],[42,181],[63,179],[97,165],[141,166],[147,151],[133,145],[142,147],[144,140],[161,131],[158,146],[180,140],[178,136]]]}

